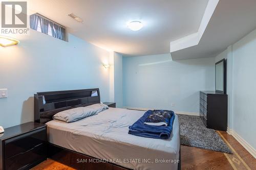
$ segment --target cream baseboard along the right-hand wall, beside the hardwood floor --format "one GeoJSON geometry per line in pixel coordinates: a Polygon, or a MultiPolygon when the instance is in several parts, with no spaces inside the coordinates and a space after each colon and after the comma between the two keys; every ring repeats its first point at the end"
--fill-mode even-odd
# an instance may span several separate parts
{"type": "Polygon", "coordinates": [[[227,128],[227,133],[232,135],[254,158],[256,158],[256,150],[247,143],[237,132],[227,128]]]}

